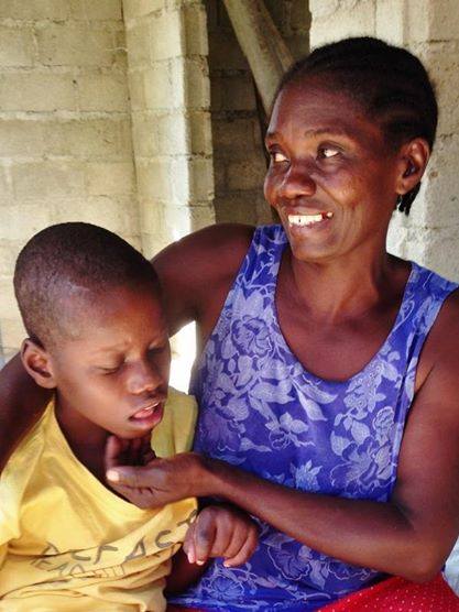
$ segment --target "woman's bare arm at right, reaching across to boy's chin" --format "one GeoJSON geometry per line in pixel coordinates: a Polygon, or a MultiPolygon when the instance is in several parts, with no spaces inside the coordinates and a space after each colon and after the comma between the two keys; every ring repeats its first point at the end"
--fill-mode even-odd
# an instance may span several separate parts
{"type": "Polygon", "coordinates": [[[136,500],[143,506],[220,496],[326,555],[415,581],[430,579],[459,532],[459,304],[453,302],[424,349],[427,374],[411,408],[389,503],[292,490],[194,453],[140,470],[118,469],[119,482],[143,488],[136,500]]]}

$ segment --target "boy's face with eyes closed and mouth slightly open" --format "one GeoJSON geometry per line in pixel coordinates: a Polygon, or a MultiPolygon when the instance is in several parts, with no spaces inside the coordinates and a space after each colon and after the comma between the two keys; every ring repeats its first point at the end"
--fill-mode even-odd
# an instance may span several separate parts
{"type": "Polygon", "coordinates": [[[119,287],[69,307],[77,339],[48,353],[62,422],[81,434],[96,425],[143,436],[162,419],[167,395],[171,350],[157,295],[119,287]]]}

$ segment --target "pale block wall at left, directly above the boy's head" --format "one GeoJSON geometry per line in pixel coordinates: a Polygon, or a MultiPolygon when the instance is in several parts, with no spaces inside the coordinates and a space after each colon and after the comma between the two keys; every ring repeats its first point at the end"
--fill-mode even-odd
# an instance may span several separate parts
{"type": "Polygon", "coordinates": [[[124,46],[121,0],[0,0],[6,353],[23,336],[12,272],[33,233],[86,220],[140,245],[124,46]]]}

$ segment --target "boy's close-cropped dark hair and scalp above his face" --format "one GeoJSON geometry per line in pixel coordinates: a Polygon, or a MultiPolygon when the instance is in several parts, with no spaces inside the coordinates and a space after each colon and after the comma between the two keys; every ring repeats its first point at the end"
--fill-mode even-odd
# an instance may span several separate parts
{"type": "Polygon", "coordinates": [[[19,254],[14,292],[29,336],[42,346],[78,335],[75,315],[113,287],[160,285],[151,263],[122,238],[83,222],[51,226],[19,254]]]}

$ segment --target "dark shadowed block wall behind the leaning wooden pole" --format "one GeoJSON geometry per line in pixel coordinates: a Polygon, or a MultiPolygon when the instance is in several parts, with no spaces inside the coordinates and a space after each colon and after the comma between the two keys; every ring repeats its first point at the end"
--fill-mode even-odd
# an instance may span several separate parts
{"type": "MultiPolygon", "coordinates": [[[[309,11],[305,0],[266,2],[294,56],[308,51],[309,11]]],[[[266,160],[265,117],[258,109],[250,67],[238,44],[223,2],[206,0],[209,32],[215,211],[218,222],[267,223],[263,197],[266,160]],[[260,116],[261,113],[261,116],[260,116]]]]}

